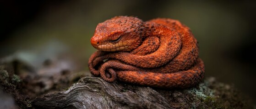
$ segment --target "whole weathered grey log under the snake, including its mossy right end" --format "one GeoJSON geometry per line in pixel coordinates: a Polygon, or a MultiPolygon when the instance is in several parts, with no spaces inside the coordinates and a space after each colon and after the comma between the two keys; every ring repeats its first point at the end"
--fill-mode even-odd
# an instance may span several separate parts
{"type": "Polygon", "coordinates": [[[36,109],[245,108],[246,103],[237,94],[229,85],[218,83],[214,78],[188,89],[152,89],[84,77],[68,90],[37,97],[32,105],[36,109]]]}

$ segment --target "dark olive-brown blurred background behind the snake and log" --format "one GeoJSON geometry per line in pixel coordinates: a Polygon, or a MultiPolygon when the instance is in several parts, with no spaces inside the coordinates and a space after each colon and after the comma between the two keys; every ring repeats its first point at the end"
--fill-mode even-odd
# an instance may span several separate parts
{"type": "Polygon", "coordinates": [[[234,84],[256,103],[256,1],[2,0],[0,58],[67,53],[88,70],[96,25],[116,15],[180,20],[199,41],[206,77],[234,84]]]}

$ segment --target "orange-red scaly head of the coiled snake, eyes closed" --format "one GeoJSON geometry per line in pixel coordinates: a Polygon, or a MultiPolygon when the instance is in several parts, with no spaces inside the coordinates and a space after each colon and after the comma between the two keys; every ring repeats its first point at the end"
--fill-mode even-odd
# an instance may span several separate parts
{"type": "Polygon", "coordinates": [[[141,45],[143,28],[136,17],[117,16],[97,25],[91,44],[102,51],[131,51],[141,45]]]}

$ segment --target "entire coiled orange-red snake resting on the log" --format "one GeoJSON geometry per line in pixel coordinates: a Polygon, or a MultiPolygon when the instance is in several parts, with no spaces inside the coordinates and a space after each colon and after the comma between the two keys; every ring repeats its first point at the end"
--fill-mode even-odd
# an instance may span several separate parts
{"type": "Polygon", "coordinates": [[[109,82],[185,88],[204,75],[197,41],[178,20],[117,16],[97,25],[91,43],[89,69],[109,82]]]}

